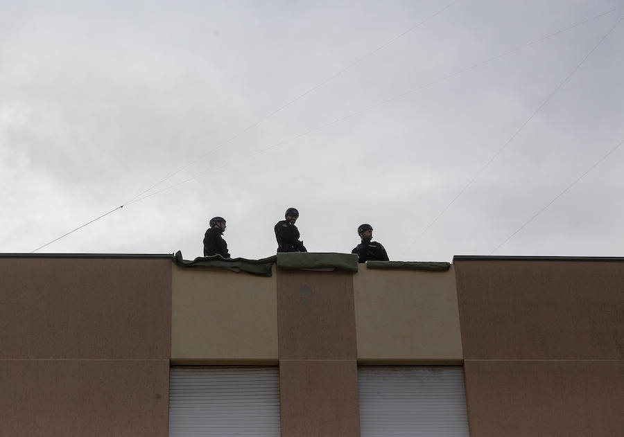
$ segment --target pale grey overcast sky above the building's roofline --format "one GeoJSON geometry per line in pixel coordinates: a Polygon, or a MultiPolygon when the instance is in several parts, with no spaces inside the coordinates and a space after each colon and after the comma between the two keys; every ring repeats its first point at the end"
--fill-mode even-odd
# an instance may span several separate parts
{"type": "MultiPolygon", "coordinates": [[[[624,3],[451,3],[0,0],[0,252],[125,204],[37,253],[193,259],[220,215],[262,258],[289,206],[309,251],[492,253],[624,140],[624,9],[464,70],[624,3]]],[[[493,254],[623,256],[623,163],[493,254]]]]}

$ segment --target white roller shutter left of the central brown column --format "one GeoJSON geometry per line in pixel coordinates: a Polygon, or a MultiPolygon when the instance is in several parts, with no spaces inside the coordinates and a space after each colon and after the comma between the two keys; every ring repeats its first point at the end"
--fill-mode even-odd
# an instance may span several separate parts
{"type": "Polygon", "coordinates": [[[278,368],[172,367],[169,437],[187,436],[279,436],[278,368]]]}

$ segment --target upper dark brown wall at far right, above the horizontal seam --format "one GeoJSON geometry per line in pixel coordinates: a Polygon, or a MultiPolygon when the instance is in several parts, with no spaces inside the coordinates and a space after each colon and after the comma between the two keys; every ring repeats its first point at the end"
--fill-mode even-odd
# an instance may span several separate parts
{"type": "Polygon", "coordinates": [[[624,262],[455,266],[465,359],[624,359],[624,262]]]}

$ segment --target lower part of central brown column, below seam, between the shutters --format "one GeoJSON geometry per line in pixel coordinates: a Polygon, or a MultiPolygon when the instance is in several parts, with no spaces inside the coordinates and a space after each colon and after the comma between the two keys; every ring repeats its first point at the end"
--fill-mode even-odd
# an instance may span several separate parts
{"type": "Polygon", "coordinates": [[[355,360],[281,360],[279,398],[282,437],[360,436],[355,360]]]}

